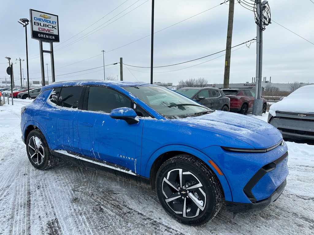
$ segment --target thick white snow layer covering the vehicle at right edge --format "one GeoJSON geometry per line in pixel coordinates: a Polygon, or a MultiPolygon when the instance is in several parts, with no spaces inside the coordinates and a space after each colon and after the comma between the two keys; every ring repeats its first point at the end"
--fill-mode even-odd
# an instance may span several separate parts
{"type": "Polygon", "coordinates": [[[269,108],[269,113],[276,116],[276,111],[314,113],[314,85],[302,86],[292,92],[283,100],[274,103],[269,108]]]}

